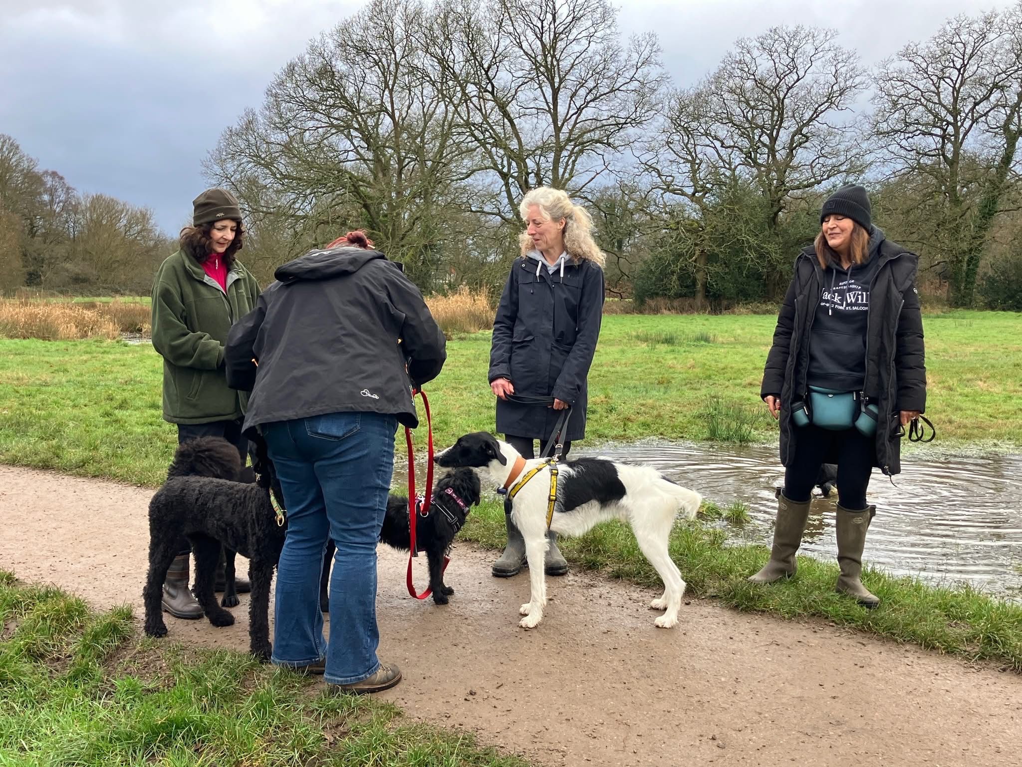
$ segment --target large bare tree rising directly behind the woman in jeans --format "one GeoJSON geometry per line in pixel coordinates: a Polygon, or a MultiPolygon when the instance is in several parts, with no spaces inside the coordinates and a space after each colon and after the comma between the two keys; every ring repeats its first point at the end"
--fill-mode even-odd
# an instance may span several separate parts
{"type": "Polygon", "coordinates": [[[418,0],[373,0],[313,41],[260,112],[223,134],[211,176],[237,189],[257,220],[287,218],[303,246],[365,226],[427,285],[445,201],[474,172],[474,147],[445,96],[456,86],[424,65],[426,24],[418,0]]]}

